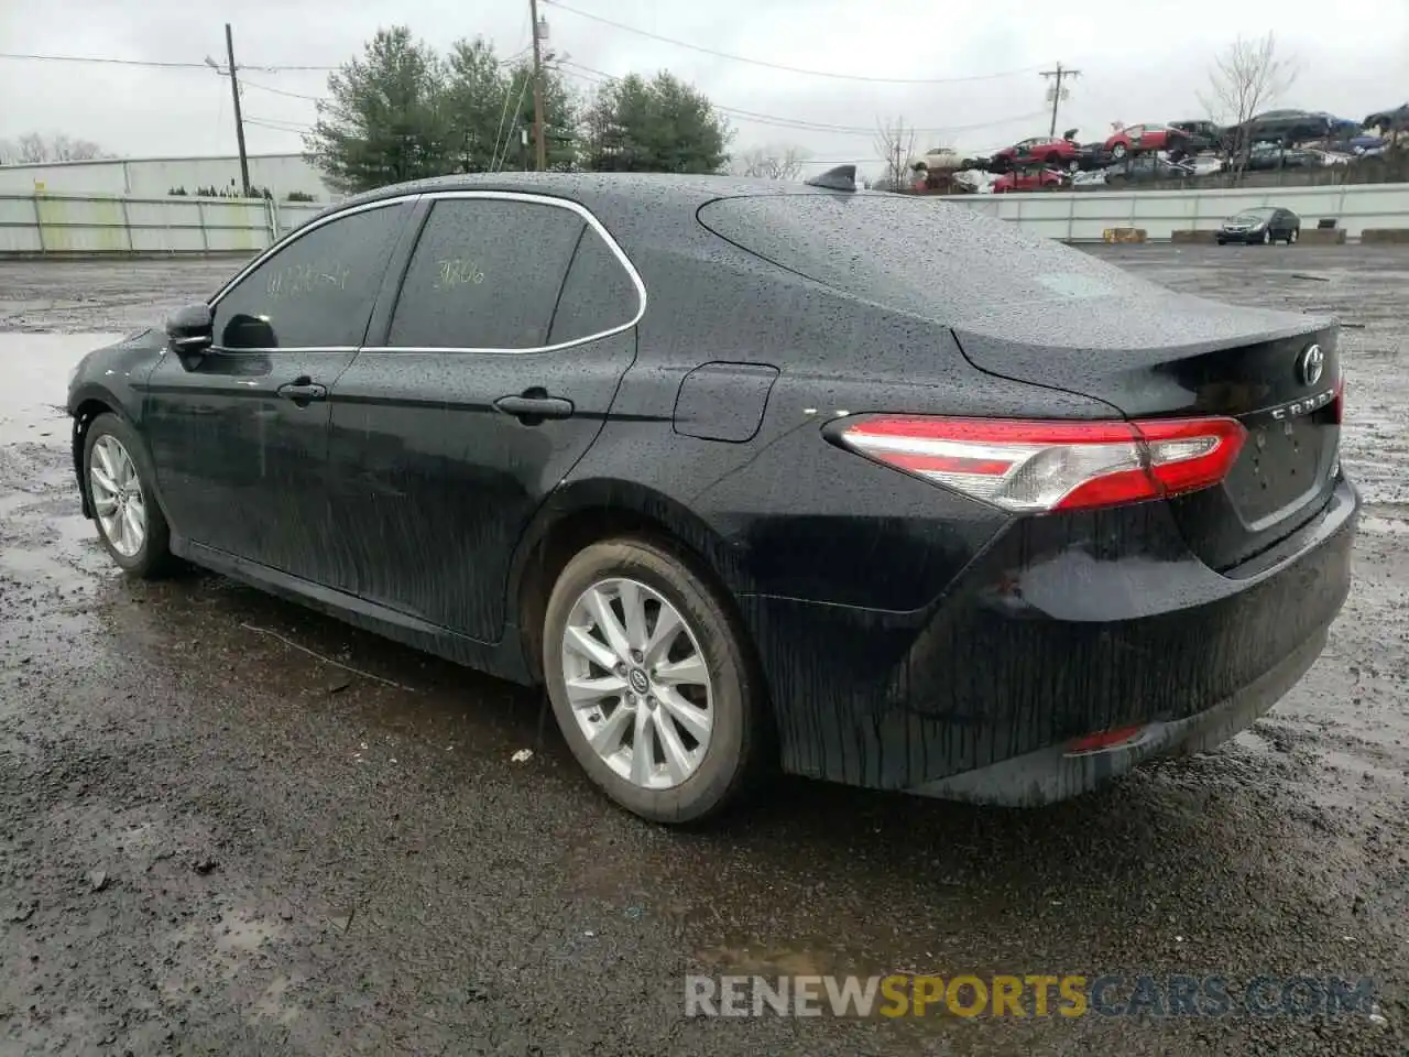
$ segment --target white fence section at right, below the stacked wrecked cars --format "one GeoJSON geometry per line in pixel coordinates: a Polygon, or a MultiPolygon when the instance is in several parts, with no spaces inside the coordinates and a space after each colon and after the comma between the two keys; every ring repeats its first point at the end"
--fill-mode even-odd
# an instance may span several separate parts
{"type": "Polygon", "coordinates": [[[967,194],[944,202],[1012,220],[1034,235],[1069,242],[1099,242],[1109,227],[1144,228],[1151,240],[1167,240],[1179,230],[1212,231],[1226,217],[1254,206],[1284,206],[1302,218],[1303,227],[1334,217],[1350,238],[1360,238],[1365,228],[1409,227],[1409,183],[967,194]]]}

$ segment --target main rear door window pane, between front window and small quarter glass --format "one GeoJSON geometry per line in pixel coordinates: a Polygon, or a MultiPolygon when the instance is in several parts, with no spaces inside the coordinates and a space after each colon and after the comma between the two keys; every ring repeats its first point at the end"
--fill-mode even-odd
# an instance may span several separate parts
{"type": "Polygon", "coordinates": [[[548,327],[586,221],[510,199],[442,199],[411,254],[386,344],[528,350],[548,327]]]}

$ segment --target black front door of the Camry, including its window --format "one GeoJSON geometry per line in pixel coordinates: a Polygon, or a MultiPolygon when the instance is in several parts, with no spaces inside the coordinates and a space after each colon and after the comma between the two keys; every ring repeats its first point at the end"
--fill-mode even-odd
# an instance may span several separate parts
{"type": "Polygon", "coordinates": [[[324,485],[327,395],[356,355],[410,209],[296,233],[217,295],[209,352],[158,364],[142,431],[182,540],[328,586],[347,579],[324,485]]]}

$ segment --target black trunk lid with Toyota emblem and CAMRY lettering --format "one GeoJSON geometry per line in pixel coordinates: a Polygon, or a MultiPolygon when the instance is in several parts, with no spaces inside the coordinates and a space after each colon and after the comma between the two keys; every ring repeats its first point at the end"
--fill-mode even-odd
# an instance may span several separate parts
{"type": "Polygon", "coordinates": [[[1247,441],[1223,483],[1169,500],[1189,548],[1227,571],[1330,499],[1339,334],[1326,320],[1193,302],[1127,304],[1109,317],[1103,306],[1085,321],[1058,310],[1044,320],[1045,340],[1012,320],[971,317],[955,337],[982,371],[1093,396],[1130,419],[1237,419],[1247,441]]]}

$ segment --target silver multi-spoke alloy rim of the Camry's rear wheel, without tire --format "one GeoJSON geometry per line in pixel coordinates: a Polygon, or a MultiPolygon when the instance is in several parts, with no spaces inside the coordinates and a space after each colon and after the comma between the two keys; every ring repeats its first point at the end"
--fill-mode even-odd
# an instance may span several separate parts
{"type": "Polygon", "coordinates": [[[562,681],[583,737],[643,789],[686,781],[709,751],[714,710],[699,638],[658,591],[610,578],[573,603],[562,681]]]}

